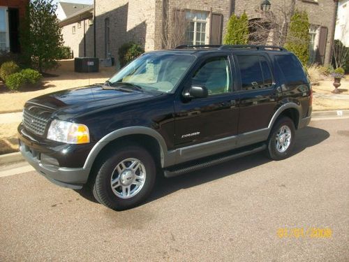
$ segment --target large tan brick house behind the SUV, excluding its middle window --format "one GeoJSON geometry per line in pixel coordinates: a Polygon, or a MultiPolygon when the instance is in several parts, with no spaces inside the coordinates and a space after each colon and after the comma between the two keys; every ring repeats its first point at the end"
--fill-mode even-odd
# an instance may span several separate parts
{"type": "MultiPolygon", "coordinates": [[[[291,1],[291,0],[286,0],[291,1]]],[[[272,0],[269,12],[276,12],[284,0],[272,0]]],[[[146,51],[163,48],[165,25],[175,17],[186,17],[188,27],[182,44],[220,44],[232,13],[244,11],[249,20],[260,19],[261,0],[96,0],[96,57],[117,57],[128,41],[140,43],[146,51]]],[[[336,0],[296,0],[311,22],[311,59],[328,64],[336,20],[336,0]]],[[[93,29],[90,27],[90,31],[93,29]]],[[[64,38],[71,37],[64,36],[64,38]]],[[[94,45],[94,43],[91,43],[94,45]]]]}

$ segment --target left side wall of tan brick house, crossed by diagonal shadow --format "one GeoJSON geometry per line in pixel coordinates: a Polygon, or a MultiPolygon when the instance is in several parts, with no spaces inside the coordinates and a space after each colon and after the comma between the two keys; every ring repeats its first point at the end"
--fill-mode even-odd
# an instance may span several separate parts
{"type": "Polygon", "coordinates": [[[156,2],[158,0],[96,1],[96,52],[105,57],[105,19],[110,20],[110,53],[117,57],[123,43],[135,41],[154,50],[156,2]]]}

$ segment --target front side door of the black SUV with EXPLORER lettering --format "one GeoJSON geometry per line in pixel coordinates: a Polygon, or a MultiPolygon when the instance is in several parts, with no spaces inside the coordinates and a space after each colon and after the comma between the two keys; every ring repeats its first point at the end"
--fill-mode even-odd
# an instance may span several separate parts
{"type": "MultiPolygon", "coordinates": [[[[216,54],[201,59],[184,82],[181,94],[191,85],[201,85],[208,89],[209,95],[190,101],[181,95],[174,102],[175,145],[177,148],[192,145],[186,151],[189,155],[205,154],[201,150],[203,147],[200,147],[202,143],[207,147],[206,142],[209,142],[208,147],[212,147],[213,151],[224,151],[235,143],[231,141],[232,144],[224,145],[226,142],[221,140],[237,134],[238,96],[233,92],[235,81],[230,65],[229,54],[216,54]],[[223,143],[223,147],[219,143],[223,143]]],[[[186,160],[191,159],[189,155],[185,157],[186,160]]]]}

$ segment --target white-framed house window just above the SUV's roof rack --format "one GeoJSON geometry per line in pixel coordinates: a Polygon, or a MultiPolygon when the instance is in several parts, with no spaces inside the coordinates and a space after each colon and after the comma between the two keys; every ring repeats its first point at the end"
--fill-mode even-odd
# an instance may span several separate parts
{"type": "Polygon", "coordinates": [[[187,45],[205,45],[207,36],[207,13],[186,11],[188,27],[186,29],[187,45]]]}

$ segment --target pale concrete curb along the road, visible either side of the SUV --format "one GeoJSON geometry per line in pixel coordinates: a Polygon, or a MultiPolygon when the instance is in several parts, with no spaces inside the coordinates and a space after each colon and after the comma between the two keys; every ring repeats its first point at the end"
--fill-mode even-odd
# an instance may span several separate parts
{"type": "MultiPolygon", "coordinates": [[[[341,117],[349,117],[349,110],[313,111],[311,113],[312,119],[322,119],[327,117],[335,117],[336,119],[341,119],[341,117]]],[[[0,155],[0,166],[6,163],[8,164],[19,161],[24,161],[24,157],[22,157],[20,152],[0,155]]]]}

